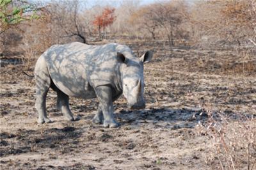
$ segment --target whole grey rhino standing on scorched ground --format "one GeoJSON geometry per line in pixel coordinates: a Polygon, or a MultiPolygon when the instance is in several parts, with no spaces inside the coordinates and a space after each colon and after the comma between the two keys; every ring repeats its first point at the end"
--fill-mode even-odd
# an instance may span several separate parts
{"type": "Polygon", "coordinates": [[[47,118],[45,98],[52,88],[57,92],[57,107],[68,120],[74,120],[68,97],[97,97],[99,108],[93,122],[103,123],[104,127],[118,127],[113,102],[122,93],[131,109],[145,108],[143,63],[151,58],[150,51],[136,58],[129,47],[117,43],[53,45],[40,56],[35,66],[38,123],[51,122],[47,118]]]}

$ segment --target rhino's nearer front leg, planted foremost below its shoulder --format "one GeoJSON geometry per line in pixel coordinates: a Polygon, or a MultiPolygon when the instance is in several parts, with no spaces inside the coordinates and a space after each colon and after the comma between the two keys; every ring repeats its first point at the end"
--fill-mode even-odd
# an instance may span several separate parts
{"type": "Polygon", "coordinates": [[[103,114],[103,126],[115,128],[119,126],[119,123],[114,118],[113,114],[113,100],[112,89],[109,86],[99,86],[96,88],[96,95],[99,100],[99,108],[102,109],[103,114]]]}

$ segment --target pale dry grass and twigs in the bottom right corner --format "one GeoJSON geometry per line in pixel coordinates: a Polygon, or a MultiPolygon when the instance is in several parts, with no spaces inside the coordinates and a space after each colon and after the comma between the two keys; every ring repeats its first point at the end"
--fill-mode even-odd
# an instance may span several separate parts
{"type": "Polygon", "coordinates": [[[206,125],[198,124],[196,131],[212,141],[212,154],[206,161],[214,169],[254,169],[256,164],[255,114],[227,116],[209,112],[206,125]]]}

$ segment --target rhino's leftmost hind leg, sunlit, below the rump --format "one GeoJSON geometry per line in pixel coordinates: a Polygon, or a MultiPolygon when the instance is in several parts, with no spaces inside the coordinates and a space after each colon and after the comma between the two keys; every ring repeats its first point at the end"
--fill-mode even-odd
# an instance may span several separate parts
{"type": "Polygon", "coordinates": [[[35,107],[38,111],[38,123],[51,123],[46,114],[46,96],[51,86],[51,78],[44,62],[44,58],[38,59],[35,66],[35,82],[36,82],[36,102],[35,107]]]}

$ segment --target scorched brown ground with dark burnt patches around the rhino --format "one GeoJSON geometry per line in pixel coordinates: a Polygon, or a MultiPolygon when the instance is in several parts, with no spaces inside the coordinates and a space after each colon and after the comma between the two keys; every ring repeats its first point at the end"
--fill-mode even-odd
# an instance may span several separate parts
{"type": "Polygon", "coordinates": [[[96,99],[70,98],[81,120],[66,121],[52,90],[47,111],[53,123],[38,125],[33,78],[22,73],[24,65],[2,66],[1,169],[218,168],[211,140],[196,126],[207,125],[209,112],[256,114],[256,58],[232,50],[154,52],[145,65],[147,107],[129,111],[125,98],[118,99],[118,128],[92,123],[96,99]]]}

